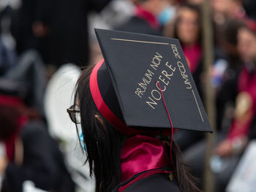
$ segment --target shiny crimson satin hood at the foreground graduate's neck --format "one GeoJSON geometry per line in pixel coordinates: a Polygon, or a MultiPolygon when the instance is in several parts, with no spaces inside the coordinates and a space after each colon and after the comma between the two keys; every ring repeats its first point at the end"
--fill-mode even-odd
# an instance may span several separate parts
{"type": "Polygon", "coordinates": [[[121,182],[135,174],[170,164],[167,146],[160,139],[143,135],[130,137],[121,150],[121,182]]]}

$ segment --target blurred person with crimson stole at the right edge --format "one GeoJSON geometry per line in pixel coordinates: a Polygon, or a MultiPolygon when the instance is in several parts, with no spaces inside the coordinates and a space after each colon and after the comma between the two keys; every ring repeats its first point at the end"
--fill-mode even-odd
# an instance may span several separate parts
{"type": "MultiPolygon", "coordinates": [[[[246,21],[246,26],[238,30],[238,53],[243,67],[238,74],[236,106],[233,121],[225,139],[217,145],[215,154],[219,157],[236,158],[231,166],[235,167],[244,151],[252,132],[255,131],[253,120],[256,117],[256,23],[246,21]]],[[[230,167],[217,181],[225,187],[233,169],[230,167]]]]}

